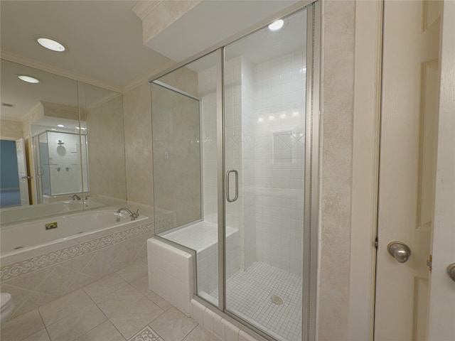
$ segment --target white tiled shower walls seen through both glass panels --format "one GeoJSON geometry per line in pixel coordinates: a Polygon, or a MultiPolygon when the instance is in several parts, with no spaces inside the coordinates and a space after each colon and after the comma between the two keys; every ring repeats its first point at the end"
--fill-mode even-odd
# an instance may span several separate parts
{"type": "MultiPolygon", "coordinates": [[[[239,199],[226,204],[227,224],[240,230],[242,269],[262,261],[301,275],[304,51],[257,65],[238,57],[225,65],[226,170],[239,171],[239,199]]],[[[216,222],[215,68],[199,72],[198,83],[203,99],[204,220],[216,222]]]]}

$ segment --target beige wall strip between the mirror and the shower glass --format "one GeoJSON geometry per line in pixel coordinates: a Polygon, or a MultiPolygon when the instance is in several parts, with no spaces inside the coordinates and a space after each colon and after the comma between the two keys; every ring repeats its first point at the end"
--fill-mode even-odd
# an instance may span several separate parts
{"type": "Polygon", "coordinates": [[[127,200],[154,205],[149,82],[123,94],[127,200]]]}

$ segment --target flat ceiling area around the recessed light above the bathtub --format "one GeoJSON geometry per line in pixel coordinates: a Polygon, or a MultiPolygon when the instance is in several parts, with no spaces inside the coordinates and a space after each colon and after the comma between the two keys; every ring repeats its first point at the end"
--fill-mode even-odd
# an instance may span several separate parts
{"type": "Polygon", "coordinates": [[[2,0],[1,51],[122,89],[172,64],[142,43],[136,2],[2,0]],[[63,41],[68,52],[42,48],[37,34],[63,41]]]}

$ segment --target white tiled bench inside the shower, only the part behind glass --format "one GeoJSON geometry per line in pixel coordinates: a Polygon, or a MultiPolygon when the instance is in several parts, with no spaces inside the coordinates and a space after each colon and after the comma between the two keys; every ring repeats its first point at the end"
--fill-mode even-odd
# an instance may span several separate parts
{"type": "MultiPolygon", "coordinates": [[[[218,224],[198,222],[163,234],[161,237],[196,251],[198,295],[213,301],[214,298],[210,293],[218,288],[218,224]]],[[[229,259],[226,276],[230,277],[240,269],[240,251],[239,231],[228,226],[226,227],[226,254],[229,259]]],[[[218,305],[218,302],[213,303],[218,305]]]]}

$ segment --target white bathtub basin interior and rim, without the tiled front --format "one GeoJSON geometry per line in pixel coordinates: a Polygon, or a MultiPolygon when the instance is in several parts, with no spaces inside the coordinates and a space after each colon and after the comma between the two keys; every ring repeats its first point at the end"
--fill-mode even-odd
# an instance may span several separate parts
{"type": "Polygon", "coordinates": [[[136,220],[131,221],[129,215],[125,215],[124,212],[118,214],[116,208],[107,207],[102,210],[8,224],[1,227],[1,256],[45,247],[146,219],[148,217],[139,215],[136,220]],[[120,218],[118,222],[117,218],[120,218]],[[46,224],[54,223],[57,224],[56,228],[46,229],[46,224]]]}

